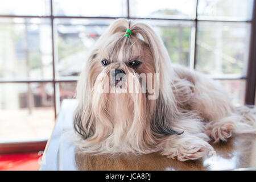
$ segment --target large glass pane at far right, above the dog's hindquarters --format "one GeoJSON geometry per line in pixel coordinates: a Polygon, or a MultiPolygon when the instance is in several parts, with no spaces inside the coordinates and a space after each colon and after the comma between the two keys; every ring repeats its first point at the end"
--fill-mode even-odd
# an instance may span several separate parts
{"type": "Polygon", "coordinates": [[[214,77],[246,76],[249,43],[250,23],[199,22],[196,69],[214,77]]]}

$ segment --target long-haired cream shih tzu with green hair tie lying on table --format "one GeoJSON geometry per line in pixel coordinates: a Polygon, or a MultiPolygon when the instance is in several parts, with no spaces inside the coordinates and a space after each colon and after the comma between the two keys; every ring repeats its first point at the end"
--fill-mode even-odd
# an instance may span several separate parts
{"type": "Polygon", "coordinates": [[[172,64],[152,28],[127,19],[97,40],[77,100],[76,144],[89,155],[160,152],[184,161],[214,152],[210,140],[256,134],[250,109],[236,109],[207,76],[172,64]]]}

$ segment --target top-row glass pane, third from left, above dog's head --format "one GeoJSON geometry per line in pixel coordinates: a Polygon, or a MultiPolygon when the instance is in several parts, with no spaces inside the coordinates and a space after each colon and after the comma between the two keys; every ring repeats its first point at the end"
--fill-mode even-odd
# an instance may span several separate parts
{"type": "Polygon", "coordinates": [[[195,14],[195,0],[130,0],[131,17],[193,19],[195,14]]]}

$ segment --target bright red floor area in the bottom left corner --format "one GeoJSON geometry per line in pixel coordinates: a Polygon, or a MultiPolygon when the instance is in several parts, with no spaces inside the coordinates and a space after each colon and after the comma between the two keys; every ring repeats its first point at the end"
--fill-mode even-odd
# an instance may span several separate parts
{"type": "Polygon", "coordinates": [[[35,153],[0,155],[0,171],[35,171],[41,156],[35,153]]]}

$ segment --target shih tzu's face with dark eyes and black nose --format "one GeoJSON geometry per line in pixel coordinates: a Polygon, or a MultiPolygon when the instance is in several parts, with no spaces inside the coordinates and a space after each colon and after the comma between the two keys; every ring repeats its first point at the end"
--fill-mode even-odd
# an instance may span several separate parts
{"type": "MultiPolygon", "coordinates": [[[[104,81],[103,84],[108,86],[108,89],[105,88],[105,93],[129,93],[129,78],[135,78],[134,73],[137,73],[137,76],[142,76],[143,73],[146,78],[148,73],[155,73],[154,59],[148,44],[136,37],[120,38],[103,45],[96,52],[91,60],[89,80],[92,81],[94,89],[97,84],[102,84],[104,81]],[[107,77],[100,80],[104,75],[107,77]],[[100,82],[97,82],[97,79],[100,82]],[[116,92],[111,90],[113,87],[116,92]]],[[[142,77],[138,81],[140,86],[147,84],[147,79],[143,80],[142,77]]],[[[131,92],[135,90],[130,90],[131,92]]]]}

